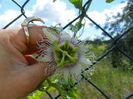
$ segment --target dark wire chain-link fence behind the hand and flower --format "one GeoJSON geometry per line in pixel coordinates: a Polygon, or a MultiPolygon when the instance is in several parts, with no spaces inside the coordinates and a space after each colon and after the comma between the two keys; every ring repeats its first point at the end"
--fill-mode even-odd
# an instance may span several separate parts
{"type": "MultiPolygon", "coordinates": [[[[15,0],[11,0],[16,6],[18,6],[20,8],[20,15],[16,16],[16,18],[14,18],[13,20],[11,20],[11,22],[9,22],[8,24],[6,24],[3,29],[8,28],[11,24],[13,24],[15,21],[17,21],[19,18],[21,18],[22,16],[24,16],[25,18],[27,18],[26,14],[25,14],[25,6],[30,2],[30,0],[26,0],[22,5],[20,5],[17,1],[15,0]]],[[[113,49],[118,49],[118,51],[123,54],[124,56],[126,56],[127,58],[129,58],[131,61],[133,61],[133,58],[130,57],[126,52],[124,52],[123,50],[120,49],[119,47],[119,40],[124,37],[129,31],[131,31],[133,29],[133,27],[130,27],[128,30],[126,30],[124,33],[122,33],[121,35],[119,35],[119,37],[117,37],[116,39],[114,39],[105,29],[103,29],[100,25],[98,25],[94,20],[92,20],[87,14],[86,11],[84,10],[86,5],[88,3],[90,3],[91,0],[88,0],[82,7],[82,13],[77,16],[75,19],[73,19],[71,22],[69,22],[66,26],[63,27],[63,30],[66,29],[68,26],[70,26],[72,23],[74,23],[76,20],[78,20],[80,17],[86,17],[89,21],[91,21],[97,28],[101,29],[103,31],[104,34],[106,34],[111,40],[112,40],[112,44],[109,48],[106,49],[105,53],[102,54],[99,58],[97,58],[90,66],[88,66],[88,68],[86,68],[83,72],[90,70],[94,65],[96,65],[99,61],[101,61],[103,58],[105,58],[106,56],[108,56],[113,49]]],[[[29,5],[28,5],[29,6],[29,5]]],[[[82,80],[85,80],[86,82],[88,82],[88,84],[92,85],[92,87],[95,88],[95,90],[97,90],[98,92],[101,93],[101,95],[103,95],[106,99],[110,99],[111,97],[109,97],[109,95],[107,93],[105,93],[101,88],[99,88],[96,84],[92,83],[90,81],[90,79],[88,79],[87,77],[84,76],[83,73],[81,73],[81,79],[79,79],[78,81],[76,81],[73,85],[71,85],[71,88],[75,87],[76,85],[78,85],[82,80]]],[[[69,89],[67,89],[69,90],[69,89]]],[[[56,97],[53,97],[49,92],[46,92],[46,94],[51,98],[51,99],[57,99],[59,98],[61,95],[57,95],[56,97]]],[[[124,99],[130,99],[132,98],[133,93],[127,95],[124,97],[124,99]]]]}

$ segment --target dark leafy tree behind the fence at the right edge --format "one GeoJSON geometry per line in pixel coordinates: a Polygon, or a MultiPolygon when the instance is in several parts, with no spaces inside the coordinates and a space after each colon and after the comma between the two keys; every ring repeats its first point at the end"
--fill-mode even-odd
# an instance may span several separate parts
{"type": "MultiPolygon", "coordinates": [[[[124,31],[133,26],[133,0],[123,1],[127,5],[123,9],[123,13],[117,13],[116,16],[109,17],[116,19],[114,22],[107,22],[105,29],[116,39],[124,31]]],[[[133,29],[129,31],[120,41],[118,46],[133,58],[133,29]]],[[[122,69],[133,69],[132,62],[122,55],[117,48],[111,53],[113,67],[123,67],[122,69]]]]}

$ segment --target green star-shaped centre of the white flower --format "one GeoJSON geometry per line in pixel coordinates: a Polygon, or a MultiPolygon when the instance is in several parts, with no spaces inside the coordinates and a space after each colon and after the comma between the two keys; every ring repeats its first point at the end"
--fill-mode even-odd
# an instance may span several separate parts
{"type": "Polygon", "coordinates": [[[73,65],[78,60],[78,48],[74,47],[69,41],[59,45],[57,41],[53,42],[55,62],[57,67],[73,65]]]}

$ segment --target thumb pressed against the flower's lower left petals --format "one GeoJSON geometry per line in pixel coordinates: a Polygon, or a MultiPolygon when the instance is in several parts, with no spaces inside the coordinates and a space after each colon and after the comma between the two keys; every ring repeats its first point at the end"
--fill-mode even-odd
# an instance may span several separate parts
{"type": "Polygon", "coordinates": [[[19,85],[16,85],[16,87],[21,87],[21,94],[23,93],[25,96],[35,90],[39,83],[52,75],[54,71],[54,67],[50,67],[43,62],[27,66],[19,71],[16,79],[16,81],[19,81],[17,83],[19,85]]]}

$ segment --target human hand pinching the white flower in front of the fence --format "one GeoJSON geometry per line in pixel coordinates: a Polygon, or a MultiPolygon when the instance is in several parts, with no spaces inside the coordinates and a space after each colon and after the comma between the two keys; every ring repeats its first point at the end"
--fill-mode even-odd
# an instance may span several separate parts
{"type": "Polygon", "coordinates": [[[0,99],[24,98],[53,74],[55,68],[29,56],[37,51],[36,43],[42,39],[42,28],[29,28],[28,46],[22,28],[0,30],[0,99]]]}

